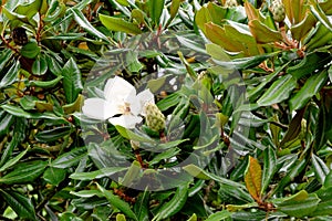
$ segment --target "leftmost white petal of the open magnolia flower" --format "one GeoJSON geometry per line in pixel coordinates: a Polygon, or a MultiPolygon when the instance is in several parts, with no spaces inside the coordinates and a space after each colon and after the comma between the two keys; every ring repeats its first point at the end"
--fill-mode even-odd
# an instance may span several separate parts
{"type": "Polygon", "coordinates": [[[103,120],[116,114],[114,105],[102,98],[85,99],[84,105],[82,107],[82,112],[87,117],[103,120]]]}

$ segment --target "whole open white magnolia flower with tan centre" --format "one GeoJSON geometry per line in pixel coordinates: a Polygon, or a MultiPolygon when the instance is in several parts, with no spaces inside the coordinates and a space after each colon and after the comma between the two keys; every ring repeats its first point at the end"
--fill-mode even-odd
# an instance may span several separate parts
{"type": "Polygon", "coordinates": [[[95,119],[108,119],[113,125],[134,128],[142,122],[138,115],[144,114],[144,106],[154,103],[154,95],[145,90],[136,95],[136,90],[122,77],[110,78],[104,88],[103,98],[87,98],[84,101],[82,112],[95,119]],[[115,115],[121,115],[114,117],[115,115]]]}

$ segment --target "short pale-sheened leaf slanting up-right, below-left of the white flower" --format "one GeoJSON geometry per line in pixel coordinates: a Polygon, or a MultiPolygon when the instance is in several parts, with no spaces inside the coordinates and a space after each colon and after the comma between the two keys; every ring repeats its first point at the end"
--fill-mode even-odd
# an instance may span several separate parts
{"type": "Polygon", "coordinates": [[[69,168],[77,165],[79,161],[86,156],[86,147],[77,147],[69,152],[60,155],[54,161],[52,161],[51,167],[55,168],[69,168]]]}

